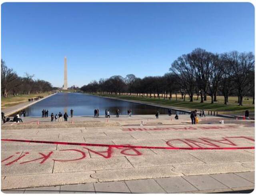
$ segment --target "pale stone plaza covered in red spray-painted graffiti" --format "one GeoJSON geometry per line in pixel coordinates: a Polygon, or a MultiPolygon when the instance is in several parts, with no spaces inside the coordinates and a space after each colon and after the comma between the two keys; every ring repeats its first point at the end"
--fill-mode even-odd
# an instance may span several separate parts
{"type": "Polygon", "coordinates": [[[23,120],[2,125],[3,192],[254,189],[254,120],[206,116],[196,125],[189,115],[23,120]]]}

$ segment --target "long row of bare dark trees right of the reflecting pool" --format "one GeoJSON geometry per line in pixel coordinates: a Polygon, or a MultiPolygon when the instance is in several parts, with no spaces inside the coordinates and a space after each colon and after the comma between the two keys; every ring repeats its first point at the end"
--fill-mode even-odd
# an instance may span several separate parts
{"type": "Polygon", "coordinates": [[[183,54],[172,62],[164,76],[146,76],[138,78],[134,74],[111,76],[93,80],[80,90],[100,94],[142,94],[146,97],[172,100],[172,95],[186,95],[193,102],[194,95],[200,102],[211,97],[211,103],[217,96],[224,96],[224,104],[229,96],[237,96],[239,106],[244,96],[252,96],[254,104],[254,54],[252,52],[225,52],[222,54],[207,52],[196,48],[189,54],[183,54]],[[153,94],[153,96],[152,96],[153,94]]]}

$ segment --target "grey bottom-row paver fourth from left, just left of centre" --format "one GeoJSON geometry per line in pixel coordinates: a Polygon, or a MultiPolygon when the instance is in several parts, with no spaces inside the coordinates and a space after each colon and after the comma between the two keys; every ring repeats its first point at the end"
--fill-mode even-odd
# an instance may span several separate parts
{"type": "Polygon", "coordinates": [[[130,193],[124,182],[94,183],[96,193],[130,193]]]}

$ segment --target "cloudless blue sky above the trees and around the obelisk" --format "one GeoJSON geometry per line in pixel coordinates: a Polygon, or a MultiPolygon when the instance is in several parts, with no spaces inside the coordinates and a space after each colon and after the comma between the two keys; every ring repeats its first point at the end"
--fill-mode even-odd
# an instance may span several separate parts
{"type": "Polygon", "coordinates": [[[161,76],[194,48],[254,52],[250,3],[4,3],[2,59],[35,79],[62,86],[161,76]]]}

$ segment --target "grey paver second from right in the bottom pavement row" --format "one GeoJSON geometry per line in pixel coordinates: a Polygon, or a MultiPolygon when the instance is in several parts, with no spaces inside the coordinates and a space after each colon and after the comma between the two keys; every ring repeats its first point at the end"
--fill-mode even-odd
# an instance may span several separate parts
{"type": "Polygon", "coordinates": [[[249,182],[248,180],[245,180],[244,178],[235,174],[211,174],[211,176],[232,189],[245,186],[254,186],[252,182],[249,182]]]}

